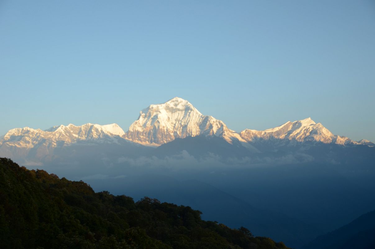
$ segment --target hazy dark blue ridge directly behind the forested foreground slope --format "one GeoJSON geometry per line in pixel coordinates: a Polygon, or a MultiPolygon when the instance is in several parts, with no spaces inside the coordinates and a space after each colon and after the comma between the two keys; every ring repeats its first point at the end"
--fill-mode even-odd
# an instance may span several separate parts
{"type": "Polygon", "coordinates": [[[205,220],[216,220],[229,226],[251,228],[254,235],[283,241],[299,248],[324,232],[285,214],[259,209],[214,186],[196,180],[179,181],[156,174],[108,180],[88,179],[95,190],[107,189],[111,193],[125,194],[134,199],[145,195],[178,205],[189,205],[203,212],[205,220]]]}

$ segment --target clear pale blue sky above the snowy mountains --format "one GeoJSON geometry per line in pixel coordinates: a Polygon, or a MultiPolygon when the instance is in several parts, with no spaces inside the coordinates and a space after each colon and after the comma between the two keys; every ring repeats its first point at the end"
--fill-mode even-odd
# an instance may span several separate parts
{"type": "Polygon", "coordinates": [[[233,130],[375,142],[375,1],[0,0],[0,135],[184,98],[233,130]]]}

